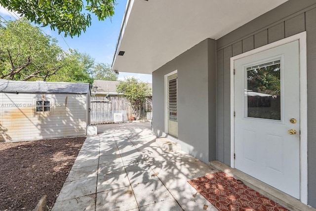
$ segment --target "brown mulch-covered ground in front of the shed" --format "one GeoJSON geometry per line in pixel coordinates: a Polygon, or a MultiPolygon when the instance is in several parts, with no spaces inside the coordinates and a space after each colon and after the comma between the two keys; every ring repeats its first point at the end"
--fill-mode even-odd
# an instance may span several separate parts
{"type": "Polygon", "coordinates": [[[0,143],[0,211],[52,208],[85,137],[0,143]]]}

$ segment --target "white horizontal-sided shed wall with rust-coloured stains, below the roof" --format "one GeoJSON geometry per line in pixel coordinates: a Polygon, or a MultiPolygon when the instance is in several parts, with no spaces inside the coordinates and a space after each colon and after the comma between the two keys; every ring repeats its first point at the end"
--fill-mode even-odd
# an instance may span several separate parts
{"type": "Polygon", "coordinates": [[[0,141],[86,135],[87,94],[0,93],[0,141]],[[36,100],[50,112],[37,113],[36,100]]]}

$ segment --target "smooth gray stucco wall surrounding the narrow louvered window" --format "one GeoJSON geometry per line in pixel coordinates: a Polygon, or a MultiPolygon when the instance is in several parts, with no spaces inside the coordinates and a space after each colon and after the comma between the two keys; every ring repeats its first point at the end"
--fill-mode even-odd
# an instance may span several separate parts
{"type": "MultiPolygon", "coordinates": [[[[215,76],[215,41],[202,41],[153,72],[153,126],[158,136],[164,134],[164,76],[178,71],[178,142],[182,149],[208,163],[209,153],[215,158],[215,148],[209,150],[209,99],[215,104],[215,85],[208,84],[208,72],[215,76]],[[212,48],[212,49],[209,49],[212,48]],[[212,53],[212,57],[209,57],[212,53]],[[213,89],[209,95],[209,88],[213,89]]],[[[215,82],[215,81],[214,81],[215,82]]],[[[214,83],[215,84],[215,83],[214,83]]],[[[212,106],[214,108],[215,106],[212,106]]],[[[211,113],[215,125],[215,110],[211,113]],[[212,116],[213,115],[213,116],[212,116]]],[[[215,134],[215,133],[214,133],[215,134]]],[[[215,135],[212,137],[215,146],[215,135]]]]}

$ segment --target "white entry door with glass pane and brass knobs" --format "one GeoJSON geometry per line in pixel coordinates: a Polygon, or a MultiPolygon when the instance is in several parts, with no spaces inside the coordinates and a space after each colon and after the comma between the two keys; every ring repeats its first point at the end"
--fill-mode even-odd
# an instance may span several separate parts
{"type": "Polygon", "coordinates": [[[235,168],[300,199],[299,41],[234,61],[235,168]]]}

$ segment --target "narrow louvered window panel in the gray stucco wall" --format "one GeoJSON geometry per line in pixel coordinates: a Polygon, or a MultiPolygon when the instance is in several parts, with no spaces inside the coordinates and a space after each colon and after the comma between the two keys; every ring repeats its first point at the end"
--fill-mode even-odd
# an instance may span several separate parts
{"type": "Polygon", "coordinates": [[[169,120],[177,122],[177,78],[169,80],[169,120]]]}

